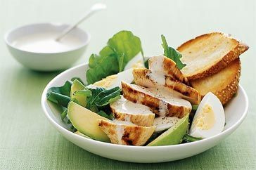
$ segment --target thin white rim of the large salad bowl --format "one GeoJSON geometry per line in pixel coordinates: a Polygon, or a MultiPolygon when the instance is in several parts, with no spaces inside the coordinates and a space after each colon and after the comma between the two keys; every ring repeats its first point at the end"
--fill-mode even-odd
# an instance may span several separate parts
{"type": "Polygon", "coordinates": [[[66,72],[70,72],[71,70],[75,70],[77,69],[78,67],[83,67],[84,65],[88,65],[88,63],[85,63],[85,64],[81,64],[81,65],[77,65],[75,67],[71,67],[70,69],[68,70],[65,70],[64,72],[61,72],[60,74],[58,74],[56,77],[54,77],[45,87],[43,93],[42,93],[42,96],[41,96],[41,107],[42,109],[44,110],[44,115],[47,117],[47,119],[49,119],[49,121],[51,122],[51,124],[53,124],[54,126],[56,126],[56,128],[60,129],[61,131],[65,131],[65,133],[68,133],[70,136],[74,137],[74,138],[80,138],[82,140],[87,140],[87,142],[90,142],[90,143],[94,143],[96,145],[103,145],[105,147],[113,147],[115,146],[116,148],[132,148],[132,149],[135,149],[135,150],[157,150],[157,149],[164,149],[164,148],[179,148],[179,147],[182,147],[182,146],[188,146],[188,145],[191,145],[191,147],[193,145],[200,145],[200,143],[205,143],[209,140],[212,140],[212,138],[217,138],[218,136],[227,136],[229,134],[230,131],[232,131],[233,129],[236,129],[242,122],[243,120],[245,119],[247,113],[248,113],[248,96],[247,96],[247,93],[245,93],[245,90],[243,89],[243,87],[239,84],[239,88],[241,89],[241,91],[243,91],[243,94],[245,95],[245,109],[244,109],[244,112],[243,112],[243,115],[241,116],[240,119],[238,119],[238,121],[233,124],[232,126],[229,127],[229,129],[226,129],[224,131],[222,131],[222,133],[219,133],[215,136],[211,136],[210,138],[205,138],[205,139],[202,139],[202,140],[197,140],[197,141],[194,141],[194,142],[191,142],[191,143],[181,143],[181,144],[178,144],[178,145],[163,145],[163,146],[134,146],[134,145],[118,145],[118,144],[114,144],[114,143],[105,143],[105,142],[101,142],[101,141],[98,141],[98,140],[94,140],[94,139],[91,139],[91,138],[84,138],[83,136],[79,136],[75,133],[73,133],[72,131],[68,131],[68,129],[65,129],[63,126],[60,126],[60,124],[58,124],[57,122],[55,122],[51,116],[49,115],[49,113],[47,112],[46,110],[46,107],[44,105],[45,103],[45,100],[46,99],[46,93],[47,93],[47,90],[51,87],[51,84],[53,84],[53,81],[55,81],[56,79],[58,79],[58,77],[61,77],[63,74],[65,74],[66,72]]]}

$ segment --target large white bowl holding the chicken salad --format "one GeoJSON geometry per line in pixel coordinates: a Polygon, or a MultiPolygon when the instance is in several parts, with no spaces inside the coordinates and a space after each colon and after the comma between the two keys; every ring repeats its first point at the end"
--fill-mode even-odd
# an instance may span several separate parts
{"type": "Polygon", "coordinates": [[[168,162],[177,159],[184,159],[204,152],[215,145],[224,138],[228,137],[238,126],[243,122],[248,112],[248,97],[244,89],[239,86],[236,97],[233,98],[224,108],[226,117],[226,126],[222,133],[216,136],[198,140],[193,143],[184,143],[180,145],[167,146],[127,146],[116,145],[112,143],[103,143],[90,138],[84,138],[71,131],[63,124],[60,119],[60,112],[53,103],[46,100],[47,90],[52,86],[62,86],[66,80],[72,77],[80,77],[85,81],[85,71],[88,69],[88,64],[72,67],[69,70],[59,74],[44,89],[41,96],[41,107],[44,113],[51,122],[51,124],[68,140],[75,145],[92,152],[102,157],[116,159],[125,162],[168,162]]]}

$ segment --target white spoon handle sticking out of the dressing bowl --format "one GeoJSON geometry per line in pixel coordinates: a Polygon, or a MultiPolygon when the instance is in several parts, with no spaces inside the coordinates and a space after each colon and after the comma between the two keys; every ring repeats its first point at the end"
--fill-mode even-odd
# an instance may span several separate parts
{"type": "Polygon", "coordinates": [[[84,20],[86,20],[87,18],[91,17],[91,15],[94,15],[94,13],[101,11],[103,9],[105,9],[106,6],[105,4],[94,4],[94,6],[91,6],[91,8],[89,9],[89,11],[87,11],[87,13],[85,13],[82,18],[80,18],[79,20],[77,20],[77,22],[75,22],[75,24],[70,25],[70,27],[67,27],[60,35],[58,35],[58,37],[56,38],[56,41],[60,41],[60,39],[62,39],[66,34],[68,34],[70,31],[72,31],[75,27],[77,27],[77,25],[79,25],[81,22],[83,22],[84,20]]]}

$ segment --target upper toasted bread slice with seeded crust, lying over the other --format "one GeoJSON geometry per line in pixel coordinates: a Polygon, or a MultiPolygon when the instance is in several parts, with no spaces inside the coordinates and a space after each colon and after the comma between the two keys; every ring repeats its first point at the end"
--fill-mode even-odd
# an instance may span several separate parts
{"type": "Polygon", "coordinates": [[[191,79],[209,77],[228,66],[248,46],[220,32],[203,34],[182,44],[177,50],[186,64],[181,72],[191,79]]]}

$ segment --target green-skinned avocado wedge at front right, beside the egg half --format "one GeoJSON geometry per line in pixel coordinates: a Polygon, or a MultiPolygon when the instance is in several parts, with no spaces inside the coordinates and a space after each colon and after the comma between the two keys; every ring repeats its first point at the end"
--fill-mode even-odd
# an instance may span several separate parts
{"type": "Polygon", "coordinates": [[[148,146],[176,145],[181,143],[188,129],[188,115],[179,120],[174,126],[155,138],[148,146]]]}

